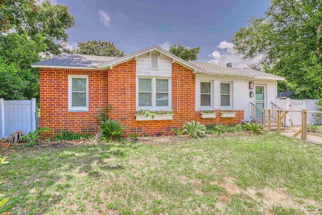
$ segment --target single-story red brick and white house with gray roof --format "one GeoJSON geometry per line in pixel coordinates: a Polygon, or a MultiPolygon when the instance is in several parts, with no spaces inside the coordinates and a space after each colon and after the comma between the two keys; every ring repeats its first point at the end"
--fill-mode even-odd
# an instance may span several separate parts
{"type": "Polygon", "coordinates": [[[255,108],[276,103],[284,78],[254,69],[188,62],[151,46],[123,57],[61,54],[32,64],[40,68],[40,125],[51,135],[94,132],[98,110],[127,133],[171,133],[186,121],[236,124],[256,120],[255,108]],[[173,115],[135,116],[140,109],[173,115]],[[206,114],[204,111],[213,111],[206,114]]]}

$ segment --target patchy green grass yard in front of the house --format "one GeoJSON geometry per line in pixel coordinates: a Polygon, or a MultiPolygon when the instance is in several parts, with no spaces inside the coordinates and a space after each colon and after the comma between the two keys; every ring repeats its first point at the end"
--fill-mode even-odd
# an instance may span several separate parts
{"type": "Polygon", "coordinates": [[[322,213],[320,146],[276,134],[163,139],[5,152],[0,213],[322,213]]]}

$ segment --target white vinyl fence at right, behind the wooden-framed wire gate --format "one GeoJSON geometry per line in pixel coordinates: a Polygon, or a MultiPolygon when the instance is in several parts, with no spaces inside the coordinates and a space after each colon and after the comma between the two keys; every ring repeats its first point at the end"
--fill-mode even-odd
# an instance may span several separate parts
{"type": "MultiPolygon", "coordinates": [[[[307,109],[308,111],[318,111],[317,105],[315,104],[317,100],[304,99],[304,100],[294,100],[294,99],[278,99],[277,106],[282,108],[282,110],[290,111],[301,111],[307,109]]],[[[307,113],[307,123],[314,124],[315,117],[314,113],[307,113]]],[[[285,117],[286,126],[297,126],[301,125],[301,112],[290,112],[285,117]]]]}

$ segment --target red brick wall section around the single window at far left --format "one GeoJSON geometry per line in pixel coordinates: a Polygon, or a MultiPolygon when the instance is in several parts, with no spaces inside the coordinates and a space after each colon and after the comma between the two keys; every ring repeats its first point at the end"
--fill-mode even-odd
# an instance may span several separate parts
{"type": "Polygon", "coordinates": [[[40,69],[40,126],[69,129],[97,127],[98,108],[107,107],[107,71],[40,69]],[[68,75],[89,76],[89,111],[68,112],[68,75]]]}

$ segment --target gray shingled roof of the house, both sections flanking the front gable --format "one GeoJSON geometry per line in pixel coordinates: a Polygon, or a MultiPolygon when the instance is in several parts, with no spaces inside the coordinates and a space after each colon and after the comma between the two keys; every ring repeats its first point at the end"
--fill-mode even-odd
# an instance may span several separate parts
{"type": "MultiPolygon", "coordinates": [[[[43,60],[32,64],[34,67],[77,67],[77,68],[93,68],[97,65],[112,61],[118,57],[95,56],[82,54],[61,54],[48,60],[43,60]]],[[[279,76],[274,76],[262,71],[250,68],[227,68],[211,62],[190,62],[191,64],[201,68],[206,74],[256,77],[263,79],[284,80],[279,76]]]]}

